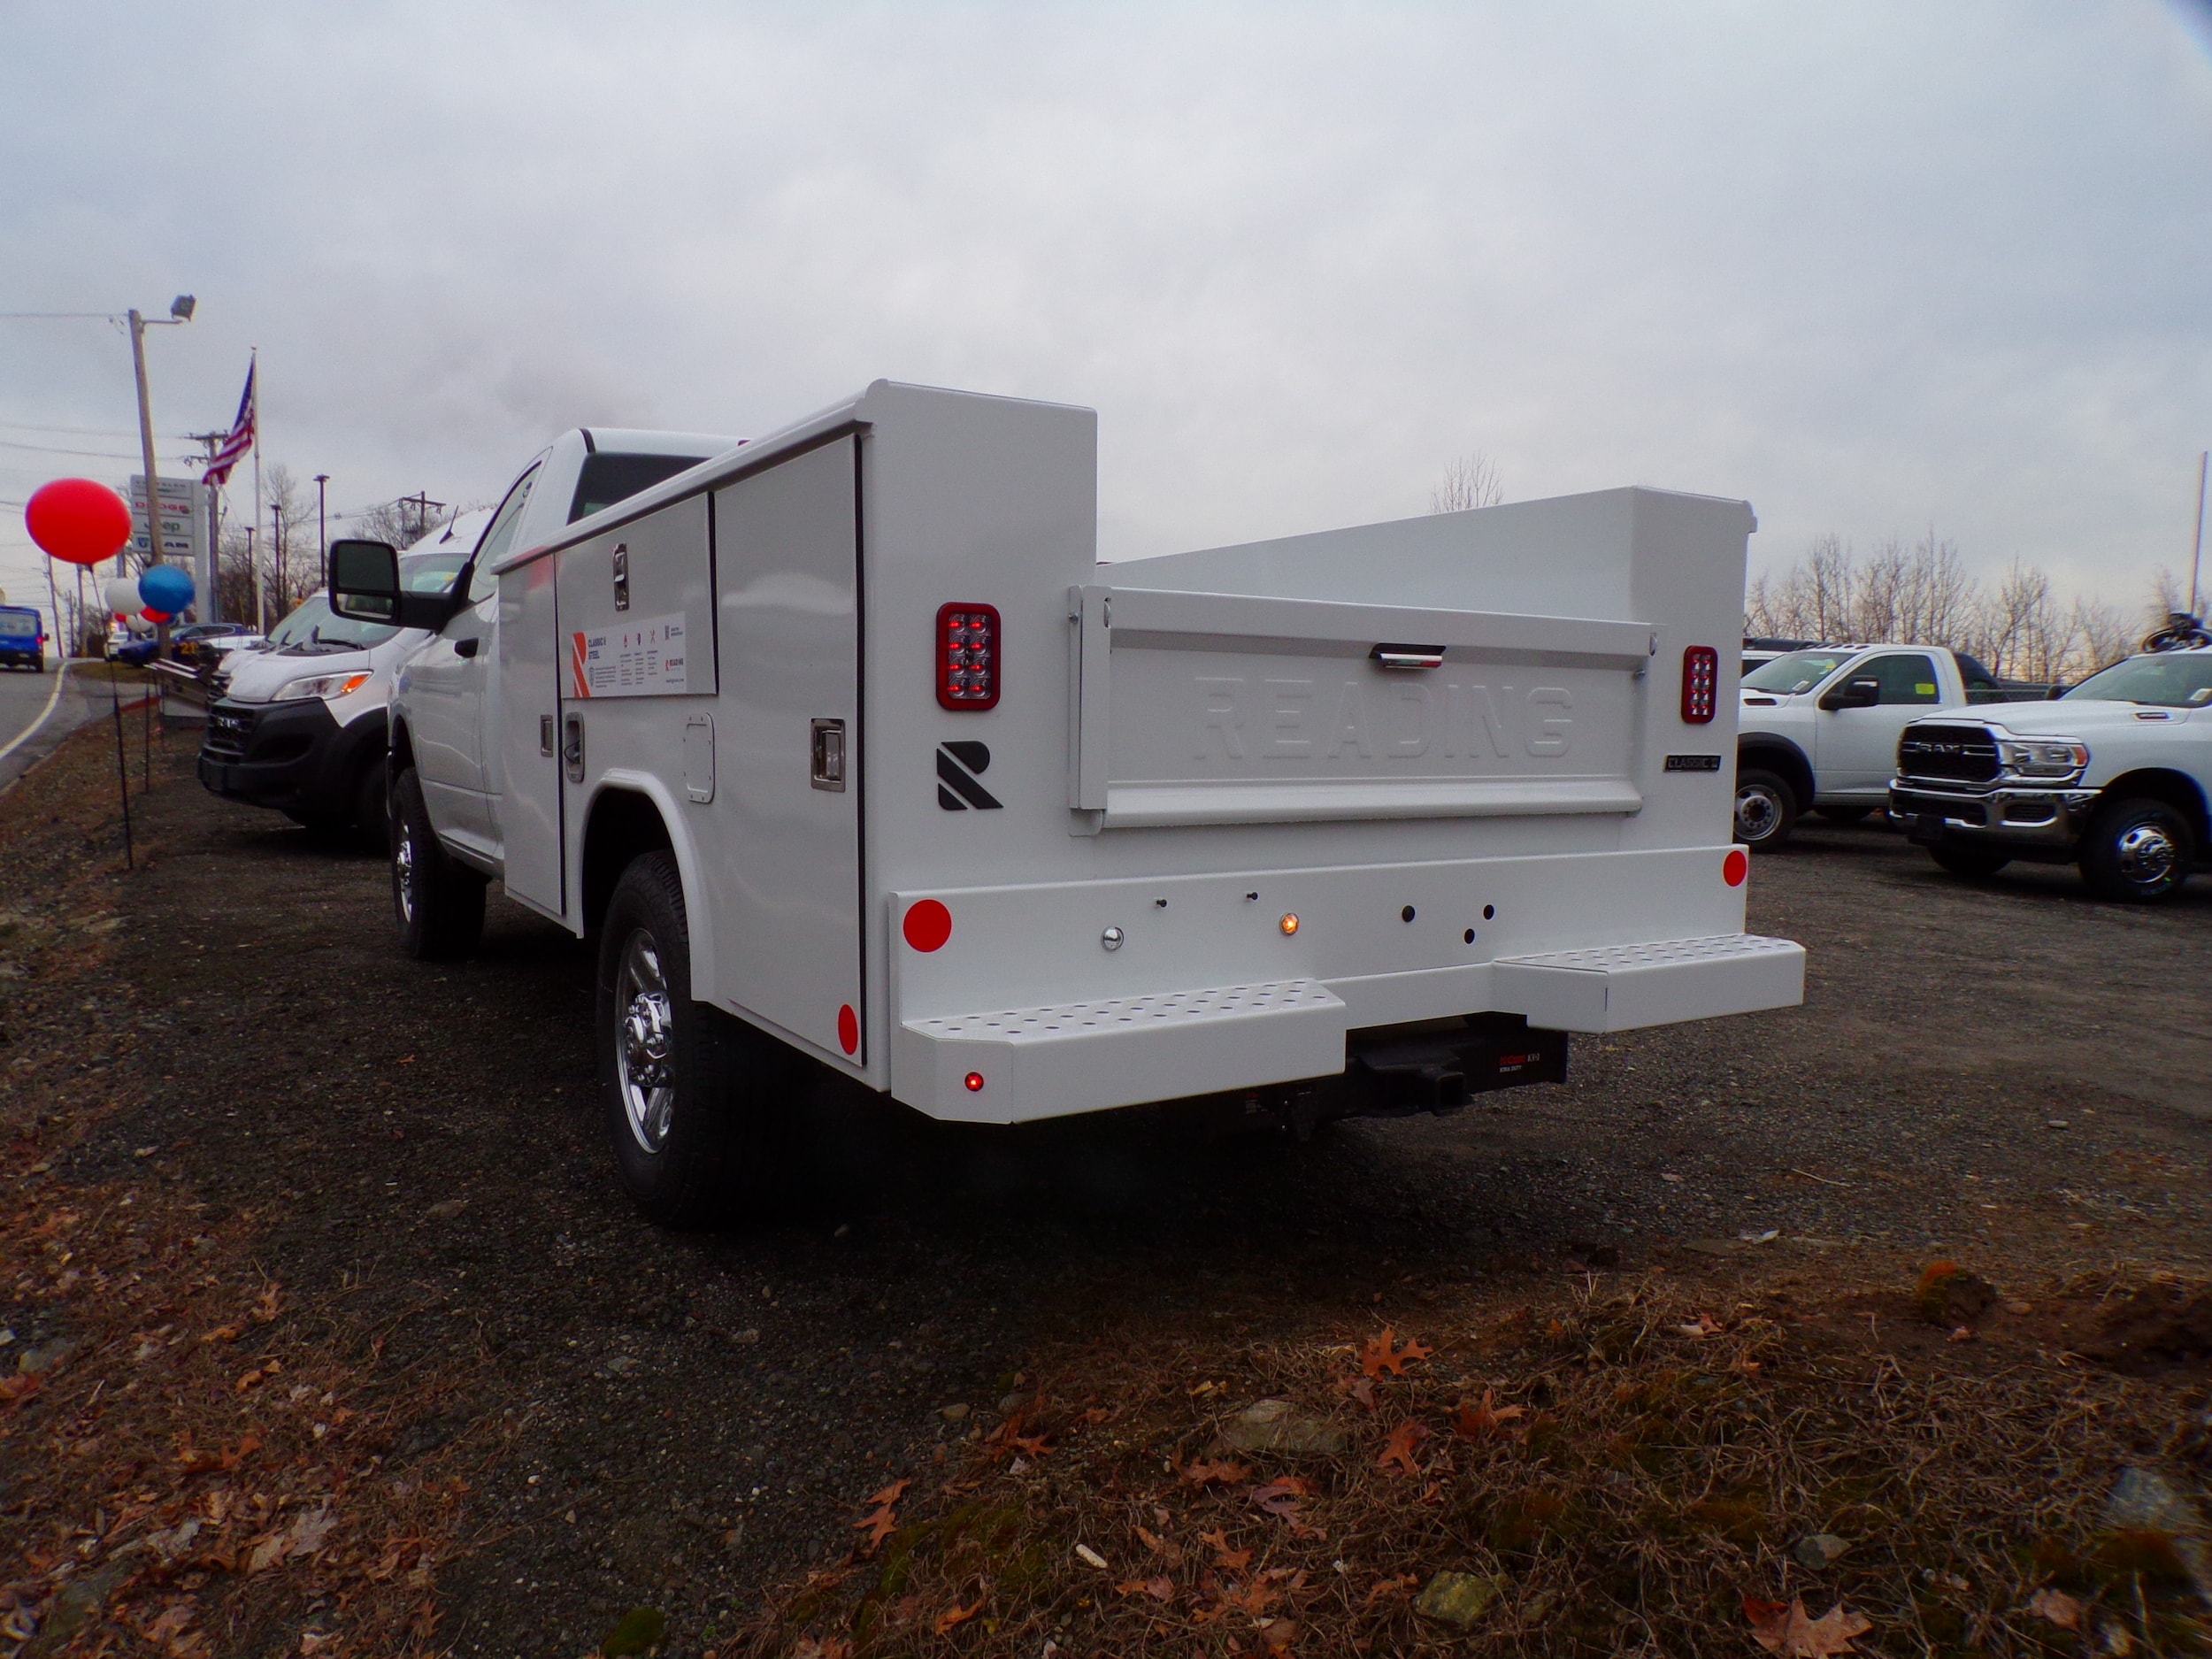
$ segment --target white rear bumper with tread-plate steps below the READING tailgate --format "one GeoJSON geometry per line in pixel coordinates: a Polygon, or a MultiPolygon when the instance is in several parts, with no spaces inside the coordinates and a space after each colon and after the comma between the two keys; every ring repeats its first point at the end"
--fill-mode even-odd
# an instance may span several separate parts
{"type": "Polygon", "coordinates": [[[1340,1077],[1347,1037],[1422,1022],[1628,1031],[1796,1004],[1805,951],[1741,931],[1730,854],[891,894],[889,1093],[1013,1124],[1340,1077]],[[920,905],[949,933],[905,938],[920,905]]]}

